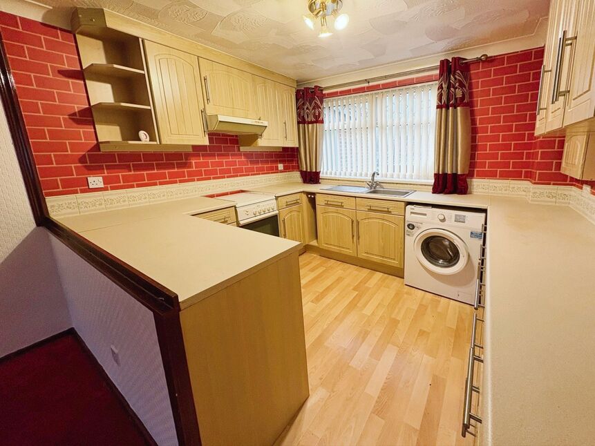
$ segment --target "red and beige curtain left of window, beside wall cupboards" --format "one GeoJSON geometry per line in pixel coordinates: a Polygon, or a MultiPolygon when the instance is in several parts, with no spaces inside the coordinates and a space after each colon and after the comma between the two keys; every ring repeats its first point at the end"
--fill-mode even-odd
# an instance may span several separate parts
{"type": "Polygon", "coordinates": [[[322,89],[301,88],[296,90],[299,168],[304,183],[319,184],[322,167],[322,89]]]}

